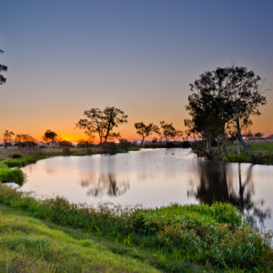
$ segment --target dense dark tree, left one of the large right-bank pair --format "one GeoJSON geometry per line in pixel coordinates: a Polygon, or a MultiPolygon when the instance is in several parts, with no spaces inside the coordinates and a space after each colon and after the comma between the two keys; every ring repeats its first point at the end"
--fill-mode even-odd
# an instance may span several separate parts
{"type": "Polygon", "coordinates": [[[191,133],[195,132],[206,139],[210,157],[213,140],[217,140],[218,148],[221,144],[223,152],[227,154],[225,127],[231,113],[222,88],[224,76],[225,70],[217,68],[216,71],[208,71],[200,75],[193,84],[189,85],[193,94],[188,96],[186,108],[192,120],[191,122],[185,120],[185,124],[191,126],[191,133]]]}

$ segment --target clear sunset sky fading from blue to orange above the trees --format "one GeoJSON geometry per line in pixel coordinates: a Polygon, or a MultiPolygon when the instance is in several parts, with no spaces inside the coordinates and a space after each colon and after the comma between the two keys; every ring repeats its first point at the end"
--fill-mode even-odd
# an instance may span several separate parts
{"type": "Polygon", "coordinates": [[[0,134],[67,140],[83,112],[116,106],[134,123],[185,129],[189,84],[218,66],[246,66],[265,79],[267,106],[252,132],[273,133],[273,1],[0,0],[0,134]]]}

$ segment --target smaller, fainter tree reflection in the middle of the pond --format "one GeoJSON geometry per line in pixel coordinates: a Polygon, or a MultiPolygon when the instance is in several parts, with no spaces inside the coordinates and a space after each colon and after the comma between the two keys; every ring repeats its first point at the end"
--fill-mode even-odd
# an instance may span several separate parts
{"type": "Polygon", "coordinates": [[[129,188],[128,180],[116,180],[114,174],[90,174],[87,177],[81,177],[81,186],[89,187],[86,194],[93,197],[117,197],[126,193],[129,188]]]}

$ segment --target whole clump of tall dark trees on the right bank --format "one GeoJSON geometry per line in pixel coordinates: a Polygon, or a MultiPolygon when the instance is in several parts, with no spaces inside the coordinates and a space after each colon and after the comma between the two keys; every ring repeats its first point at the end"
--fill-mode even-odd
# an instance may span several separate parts
{"type": "Polygon", "coordinates": [[[238,143],[256,161],[242,137],[242,130],[252,124],[250,116],[260,115],[259,106],[266,104],[260,77],[246,67],[217,68],[202,74],[190,84],[190,89],[193,94],[188,96],[187,110],[195,131],[207,140],[208,152],[211,153],[211,140],[217,140],[219,146],[221,138],[222,149],[227,154],[225,136],[227,132],[235,133],[238,143]]]}

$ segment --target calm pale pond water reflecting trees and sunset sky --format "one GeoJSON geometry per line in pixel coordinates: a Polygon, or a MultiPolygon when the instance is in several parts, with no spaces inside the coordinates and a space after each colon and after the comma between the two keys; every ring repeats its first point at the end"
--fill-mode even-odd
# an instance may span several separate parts
{"type": "Polygon", "coordinates": [[[273,166],[208,161],[177,148],[52,157],[22,170],[21,189],[36,197],[143,207],[222,201],[236,205],[253,225],[273,230],[273,166]]]}

